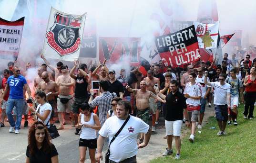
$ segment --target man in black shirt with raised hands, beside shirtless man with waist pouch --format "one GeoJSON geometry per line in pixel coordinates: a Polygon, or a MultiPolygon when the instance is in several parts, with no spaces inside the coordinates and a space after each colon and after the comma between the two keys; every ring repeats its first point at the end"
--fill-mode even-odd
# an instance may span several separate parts
{"type": "MultiPolygon", "coordinates": [[[[78,66],[78,61],[74,61],[74,67],[70,71],[69,75],[76,81],[75,82],[75,100],[72,105],[72,110],[74,113],[74,120],[75,123],[73,124],[72,122],[72,127],[75,127],[78,122],[78,114],[80,113],[79,108],[81,107],[82,103],[88,102],[89,100],[89,95],[87,92],[87,87],[88,87],[88,75],[87,75],[87,65],[86,64],[81,64],[80,67],[78,68],[78,73],[77,75],[74,75],[73,72],[78,66]]],[[[77,135],[79,133],[79,129],[76,128],[75,134],[77,135]]]]}

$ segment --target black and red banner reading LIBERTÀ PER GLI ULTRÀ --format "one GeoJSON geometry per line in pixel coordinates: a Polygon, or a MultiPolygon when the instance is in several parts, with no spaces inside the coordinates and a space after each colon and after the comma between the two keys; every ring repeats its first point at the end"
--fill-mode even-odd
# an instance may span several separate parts
{"type": "Polygon", "coordinates": [[[200,59],[195,27],[190,26],[172,34],[155,38],[161,58],[172,67],[193,63],[200,59]]]}

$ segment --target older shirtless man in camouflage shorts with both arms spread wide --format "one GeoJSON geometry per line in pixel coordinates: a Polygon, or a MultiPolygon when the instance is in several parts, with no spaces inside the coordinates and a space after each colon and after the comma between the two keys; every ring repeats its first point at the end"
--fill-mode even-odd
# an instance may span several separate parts
{"type": "MultiPolygon", "coordinates": [[[[141,89],[132,89],[129,87],[129,85],[127,85],[125,88],[128,91],[133,92],[136,97],[137,117],[141,118],[146,124],[148,124],[149,99],[150,98],[157,99],[163,103],[165,103],[165,100],[162,100],[161,98],[157,97],[152,91],[147,91],[146,87],[147,87],[146,81],[141,81],[140,82],[141,89]]],[[[144,134],[141,134],[140,143],[143,142],[143,137],[144,137],[144,134]]]]}

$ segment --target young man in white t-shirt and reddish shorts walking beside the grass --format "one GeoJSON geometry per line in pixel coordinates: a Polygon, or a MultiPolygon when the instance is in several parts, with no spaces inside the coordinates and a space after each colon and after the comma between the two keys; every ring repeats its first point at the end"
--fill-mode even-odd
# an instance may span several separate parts
{"type": "Polygon", "coordinates": [[[186,104],[187,104],[187,110],[189,115],[189,122],[190,122],[190,131],[191,135],[189,137],[189,141],[191,143],[194,143],[195,141],[195,129],[196,129],[196,121],[197,121],[197,115],[200,111],[200,99],[202,97],[202,89],[201,85],[197,82],[195,82],[196,74],[194,72],[190,73],[188,75],[189,82],[186,83],[185,89],[184,89],[184,96],[187,98],[186,104]]]}

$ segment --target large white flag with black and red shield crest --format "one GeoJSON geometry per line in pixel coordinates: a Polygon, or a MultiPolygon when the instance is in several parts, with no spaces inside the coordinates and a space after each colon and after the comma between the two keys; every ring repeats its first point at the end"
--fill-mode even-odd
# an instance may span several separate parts
{"type": "Polygon", "coordinates": [[[42,53],[64,61],[79,58],[86,13],[71,15],[51,8],[42,53]]]}

